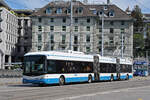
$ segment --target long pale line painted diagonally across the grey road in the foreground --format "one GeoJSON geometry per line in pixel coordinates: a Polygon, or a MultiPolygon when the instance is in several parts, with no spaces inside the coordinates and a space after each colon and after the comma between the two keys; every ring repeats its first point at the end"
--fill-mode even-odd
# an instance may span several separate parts
{"type": "MultiPolygon", "coordinates": [[[[134,87],[134,88],[126,88],[126,89],[118,89],[118,90],[111,90],[111,91],[105,91],[105,92],[97,92],[97,93],[91,93],[91,94],[83,94],[83,95],[78,95],[78,96],[70,96],[70,97],[59,98],[59,99],[55,99],[55,100],[79,99],[79,98],[82,98],[82,97],[91,97],[91,96],[96,96],[96,95],[103,95],[103,94],[110,94],[110,93],[119,93],[119,92],[128,92],[129,90],[142,89],[142,88],[150,88],[150,86],[134,87]]],[[[139,98],[138,100],[143,100],[143,99],[139,98]]]]}

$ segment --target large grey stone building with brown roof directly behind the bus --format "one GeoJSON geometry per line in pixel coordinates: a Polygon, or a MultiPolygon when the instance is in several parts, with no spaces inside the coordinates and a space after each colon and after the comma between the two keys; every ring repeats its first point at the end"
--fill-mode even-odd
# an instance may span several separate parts
{"type": "MultiPolygon", "coordinates": [[[[109,1],[109,0],[108,0],[109,1]]],[[[114,4],[84,4],[73,0],[53,1],[32,14],[32,51],[68,50],[101,53],[104,56],[133,56],[133,19],[114,4]],[[104,28],[102,29],[102,17],[104,28]],[[71,33],[71,39],[70,39],[71,33]]]]}

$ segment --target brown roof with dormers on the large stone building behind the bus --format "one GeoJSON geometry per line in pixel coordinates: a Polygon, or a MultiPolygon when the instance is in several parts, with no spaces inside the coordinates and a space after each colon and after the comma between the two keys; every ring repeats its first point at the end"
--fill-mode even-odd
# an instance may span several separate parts
{"type": "MultiPolygon", "coordinates": [[[[67,11],[70,9],[70,2],[68,1],[53,1],[44,6],[43,8],[40,8],[39,10],[35,11],[32,14],[32,17],[34,16],[42,16],[42,17],[69,17],[70,13],[67,13],[67,11]],[[46,9],[51,9],[51,14],[46,14],[46,9]],[[62,9],[61,14],[57,14],[56,10],[58,8],[62,9]]],[[[112,4],[101,4],[101,5],[85,5],[80,1],[74,1],[73,2],[73,17],[96,17],[97,13],[94,14],[93,12],[96,11],[99,13],[100,11],[103,11],[105,14],[105,19],[113,19],[113,20],[129,20],[132,19],[131,16],[129,16],[125,11],[118,8],[116,5],[112,4]],[[107,7],[106,10],[104,10],[104,7],[107,7]],[[77,9],[83,9],[82,13],[77,13],[77,9]],[[114,17],[110,17],[109,13],[113,11],[114,17]]]]}

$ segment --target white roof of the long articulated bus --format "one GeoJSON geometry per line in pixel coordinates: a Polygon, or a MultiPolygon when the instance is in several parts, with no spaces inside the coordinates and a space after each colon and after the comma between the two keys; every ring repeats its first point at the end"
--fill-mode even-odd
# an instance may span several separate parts
{"type": "MultiPolygon", "coordinates": [[[[93,62],[93,54],[85,54],[83,52],[76,52],[76,51],[41,51],[41,52],[30,52],[25,54],[25,56],[31,56],[31,55],[44,55],[47,57],[47,59],[50,60],[68,60],[68,61],[87,61],[87,62],[93,62]]],[[[101,63],[116,63],[116,58],[114,57],[102,57],[98,54],[96,56],[99,56],[99,61],[101,63]]],[[[120,58],[120,64],[132,64],[131,60],[128,59],[121,59],[120,58]]]]}

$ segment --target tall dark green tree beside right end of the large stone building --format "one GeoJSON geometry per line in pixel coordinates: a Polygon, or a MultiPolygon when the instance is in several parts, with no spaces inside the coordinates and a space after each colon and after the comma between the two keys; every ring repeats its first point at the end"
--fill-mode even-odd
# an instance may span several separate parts
{"type": "Polygon", "coordinates": [[[144,33],[143,33],[143,14],[138,5],[134,7],[131,12],[131,16],[135,19],[134,21],[134,33],[133,33],[133,55],[144,56],[144,33]]]}

